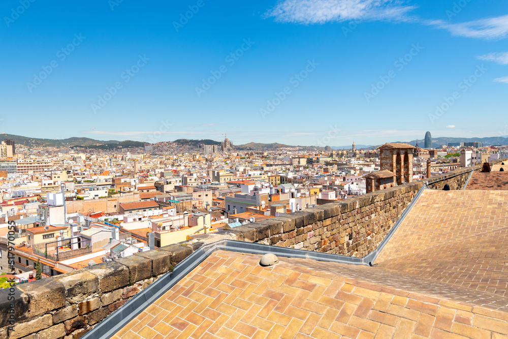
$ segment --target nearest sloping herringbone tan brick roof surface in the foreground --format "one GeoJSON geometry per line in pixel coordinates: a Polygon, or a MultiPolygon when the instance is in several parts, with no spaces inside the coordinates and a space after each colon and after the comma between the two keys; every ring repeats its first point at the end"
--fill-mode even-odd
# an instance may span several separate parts
{"type": "Polygon", "coordinates": [[[431,295],[376,267],[285,258],[262,267],[259,260],[215,252],[113,338],[508,335],[508,313],[483,307],[483,301],[455,300],[446,295],[446,283],[443,295],[431,295]],[[375,279],[368,278],[372,269],[375,279]]]}

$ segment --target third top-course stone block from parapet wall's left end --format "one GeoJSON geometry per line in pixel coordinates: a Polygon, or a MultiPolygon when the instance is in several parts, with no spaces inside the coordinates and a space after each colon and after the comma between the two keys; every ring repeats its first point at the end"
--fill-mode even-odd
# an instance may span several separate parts
{"type": "Polygon", "coordinates": [[[97,276],[86,270],[77,270],[53,278],[65,286],[65,296],[71,303],[80,302],[86,296],[99,291],[97,276]]]}

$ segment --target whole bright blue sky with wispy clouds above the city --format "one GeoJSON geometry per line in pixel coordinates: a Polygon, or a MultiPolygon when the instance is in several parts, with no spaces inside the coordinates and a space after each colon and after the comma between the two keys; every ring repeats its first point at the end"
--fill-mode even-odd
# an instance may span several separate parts
{"type": "Polygon", "coordinates": [[[320,146],[508,134],[505,0],[6,0],[0,13],[5,133],[320,146]]]}

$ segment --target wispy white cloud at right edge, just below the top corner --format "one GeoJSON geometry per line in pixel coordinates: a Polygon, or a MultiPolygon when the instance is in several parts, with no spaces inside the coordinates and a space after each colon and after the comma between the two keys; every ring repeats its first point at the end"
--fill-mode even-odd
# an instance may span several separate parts
{"type": "Polygon", "coordinates": [[[443,20],[425,21],[429,26],[447,29],[453,36],[477,39],[501,39],[508,35],[508,14],[461,23],[443,20]]]}

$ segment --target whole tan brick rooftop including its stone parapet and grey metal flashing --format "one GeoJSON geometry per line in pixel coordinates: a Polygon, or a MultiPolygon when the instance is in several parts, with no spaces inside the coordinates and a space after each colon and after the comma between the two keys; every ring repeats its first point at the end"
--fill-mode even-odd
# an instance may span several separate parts
{"type": "Polygon", "coordinates": [[[0,336],[508,336],[507,196],[462,190],[480,168],[20,285],[0,336]]]}

